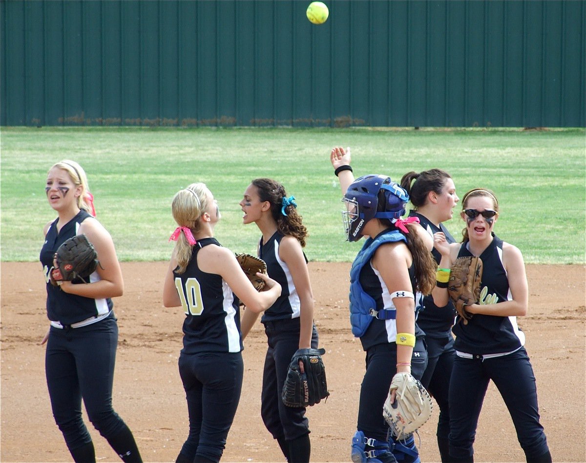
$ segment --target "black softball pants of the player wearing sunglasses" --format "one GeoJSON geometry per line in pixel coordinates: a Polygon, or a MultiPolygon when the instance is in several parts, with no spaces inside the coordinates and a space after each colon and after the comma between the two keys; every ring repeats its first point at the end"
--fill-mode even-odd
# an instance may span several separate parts
{"type": "Polygon", "coordinates": [[[449,387],[450,457],[469,458],[474,454],[472,445],[490,380],[509,409],[527,461],[548,452],[539,423],[533,367],[522,347],[512,354],[485,360],[456,356],[449,387]]]}

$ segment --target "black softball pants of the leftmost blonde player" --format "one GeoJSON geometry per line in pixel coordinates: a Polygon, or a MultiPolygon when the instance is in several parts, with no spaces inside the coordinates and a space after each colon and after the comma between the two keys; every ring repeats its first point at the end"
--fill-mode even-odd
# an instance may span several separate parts
{"type": "Polygon", "coordinates": [[[127,429],[112,408],[117,345],[118,325],[113,315],[80,328],[50,329],[45,354],[47,387],[55,422],[70,451],[91,442],[81,416],[82,398],[91,423],[103,437],[111,440],[127,429]]]}

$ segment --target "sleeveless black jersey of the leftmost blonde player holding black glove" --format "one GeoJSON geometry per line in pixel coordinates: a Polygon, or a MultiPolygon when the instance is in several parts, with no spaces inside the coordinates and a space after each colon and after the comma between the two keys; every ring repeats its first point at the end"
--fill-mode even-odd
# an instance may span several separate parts
{"type": "MultiPolygon", "coordinates": [[[[45,236],[45,244],[40,250],[40,262],[43,264],[47,284],[47,317],[52,322],[60,323],[60,327],[73,325],[73,323],[79,323],[91,317],[105,316],[110,313],[114,306],[110,298],[84,298],[83,296],[66,293],[59,286],[53,286],[50,283],[49,272],[53,268],[53,256],[57,248],[67,239],[77,235],[81,222],[88,217],[92,217],[88,212],[79,211],[73,219],[63,225],[59,232],[57,232],[57,221],[59,219],[55,219],[49,227],[49,231],[45,236]]],[[[98,280],[100,280],[100,276],[98,276],[97,272],[92,273],[89,277],[90,282],[98,280]]],[[[76,279],[72,283],[84,282],[81,279],[76,279]]]]}

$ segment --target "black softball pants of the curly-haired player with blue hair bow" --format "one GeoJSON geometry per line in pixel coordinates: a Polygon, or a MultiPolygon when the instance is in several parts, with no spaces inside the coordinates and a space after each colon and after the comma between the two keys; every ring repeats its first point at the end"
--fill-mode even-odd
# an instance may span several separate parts
{"type": "MultiPolygon", "coordinates": [[[[263,391],[261,393],[261,416],[272,437],[292,441],[309,434],[309,421],[305,407],[287,407],[281,400],[281,391],[291,357],[299,349],[298,318],[264,322],[268,349],[264,359],[263,391]]],[[[311,347],[318,348],[318,331],[313,328],[311,347]]]]}

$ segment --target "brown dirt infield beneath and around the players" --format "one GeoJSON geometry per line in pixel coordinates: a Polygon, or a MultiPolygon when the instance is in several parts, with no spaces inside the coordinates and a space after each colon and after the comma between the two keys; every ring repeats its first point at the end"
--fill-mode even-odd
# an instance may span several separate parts
{"type": "MultiPolygon", "coordinates": [[[[165,309],[161,289],[166,262],[122,263],[125,293],[116,298],[120,326],[114,408],[134,432],[148,462],[171,462],[188,431],[187,407],[177,359],[182,342],[180,309],[165,309]]],[[[349,263],[311,262],[319,329],[331,396],[308,411],[312,461],[350,461],[356,430],[364,353],[347,316],[349,263]]],[[[541,423],[554,461],[586,462],[584,266],[528,265],[529,315],[519,319],[537,377],[541,423]]],[[[54,424],[45,383],[48,326],[45,288],[38,262],[1,265],[1,447],[2,462],[71,461],[54,424]]],[[[244,387],[224,462],[284,461],[260,418],[265,335],[260,324],[246,340],[244,387]]],[[[86,423],[87,417],[86,417],[86,423]]],[[[420,430],[421,459],[439,461],[437,408],[420,430]]],[[[97,461],[120,461],[96,430],[88,428],[97,461]]],[[[525,461],[515,429],[491,384],[475,444],[477,462],[525,461]]]]}

